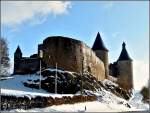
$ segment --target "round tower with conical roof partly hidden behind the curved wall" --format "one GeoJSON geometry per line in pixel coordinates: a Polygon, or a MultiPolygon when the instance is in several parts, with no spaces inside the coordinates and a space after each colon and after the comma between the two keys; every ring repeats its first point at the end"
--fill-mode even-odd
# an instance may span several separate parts
{"type": "Polygon", "coordinates": [[[97,33],[92,50],[96,53],[96,56],[103,61],[105,66],[105,77],[106,77],[108,75],[108,49],[105,47],[99,32],[97,33]]]}

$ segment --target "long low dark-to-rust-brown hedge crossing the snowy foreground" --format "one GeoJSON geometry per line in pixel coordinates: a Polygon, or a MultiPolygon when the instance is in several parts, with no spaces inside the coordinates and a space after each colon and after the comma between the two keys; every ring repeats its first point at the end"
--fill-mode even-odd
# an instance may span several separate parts
{"type": "Polygon", "coordinates": [[[31,109],[36,107],[43,108],[52,105],[74,104],[77,102],[95,101],[95,100],[96,96],[82,96],[82,95],[75,95],[73,97],[63,96],[62,98],[37,96],[31,99],[29,99],[28,97],[1,96],[1,110],[5,109],[5,104],[7,104],[7,109],[14,109],[14,108],[31,109]]]}

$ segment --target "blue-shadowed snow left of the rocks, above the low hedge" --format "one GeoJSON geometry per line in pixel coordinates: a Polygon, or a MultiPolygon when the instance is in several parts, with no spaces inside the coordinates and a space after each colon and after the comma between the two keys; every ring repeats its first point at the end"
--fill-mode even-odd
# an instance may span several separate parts
{"type": "MultiPolygon", "coordinates": [[[[0,81],[1,95],[15,95],[15,96],[27,96],[34,98],[35,96],[51,96],[51,97],[62,97],[62,96],[73,96],[72,94],[53,94],[46,92],[43,89],[32,89],[25,87],[22,83],[27,80],[37,80],[39,75],[15,75],[10,79],[0,81]]],[[[44,78],[42,78],[44,79],[44,78]]]]}

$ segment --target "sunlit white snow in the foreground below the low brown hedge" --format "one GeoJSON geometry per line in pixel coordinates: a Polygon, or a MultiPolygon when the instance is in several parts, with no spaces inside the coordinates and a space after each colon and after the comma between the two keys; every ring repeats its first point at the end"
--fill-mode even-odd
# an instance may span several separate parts
{"type": "Polygon", "coordinates": [[[128,103],[124,99],[120,99],[106,92],[102,100],[93,102],[84,102],[76,104],[54,105],[46,108],[34,108],[29,110],[14,109],[12,112],[122,112],[122,111],[144,111],[147,108],[127,107],[128,103]],[[86,107],[86,110],[85,110],[86,107]]]}

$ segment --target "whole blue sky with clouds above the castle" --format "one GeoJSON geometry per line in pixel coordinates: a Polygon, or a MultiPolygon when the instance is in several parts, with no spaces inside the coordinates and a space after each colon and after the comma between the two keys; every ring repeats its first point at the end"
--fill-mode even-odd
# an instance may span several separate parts
{"type": "MultiPolygon", "coordinates": [[[[109,62],[118,59],[125,41],[129,55],[135,61],[134,67],[138,70],[140,65],[144,66],[140,68],[142,75],[136,77],[137,82],[141,76],[148,79],[148,1],[12,1],[2,2],[1,14],[1,35],[9,42],[11,60],[18,45],[23,56],[30,56],[37,52],[43,39],[52,35],[72,37],[92,47],[99,31],[109,49],[109,62]]],[[[143,84],[138,83],[139,86],[143,84]]]]}

